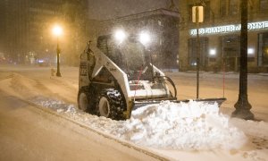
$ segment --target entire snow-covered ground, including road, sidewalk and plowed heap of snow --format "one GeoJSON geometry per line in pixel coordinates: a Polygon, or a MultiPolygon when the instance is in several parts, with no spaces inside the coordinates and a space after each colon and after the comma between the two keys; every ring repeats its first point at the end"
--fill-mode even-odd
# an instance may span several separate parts
{"type": "MultiPolygon", "coordinates": [[[[0,160],[268,160],[268,75],[248,75],[248,99],[261,122],[229,120],[237,73],[225,75],[220,113],[215,106],[165,102],[124,122],[78,110],[78,68],[63,67],[62,75],[0,66],[0,160]]],[[[195,72],[167,75],[179,99],[195,98],[195,72]]],[[[222,86],[222,73],[200,74],[200,97],[222,97],[222,86]]]]}

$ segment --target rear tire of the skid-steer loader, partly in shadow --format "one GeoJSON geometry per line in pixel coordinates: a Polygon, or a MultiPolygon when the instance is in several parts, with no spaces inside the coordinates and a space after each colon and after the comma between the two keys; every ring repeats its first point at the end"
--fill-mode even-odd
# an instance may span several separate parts
{"type": "Polygon", "coordinates": [[[89,114],[96,114],[94,97],[87,88],[81,88],[78,93],[78,107],[89,114]]]}

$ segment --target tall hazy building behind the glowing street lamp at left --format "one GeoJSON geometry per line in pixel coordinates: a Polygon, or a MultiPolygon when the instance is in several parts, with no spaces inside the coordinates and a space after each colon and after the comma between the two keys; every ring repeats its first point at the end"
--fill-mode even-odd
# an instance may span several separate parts
{"type": "Polygon", "coordinates": [[[71,64],[73,53],[79,53],[75,50],[80,48],[80,41],[85,41],[82,35],[86,30],[87,0],[3,0],[0,7],[0,52],[9,63],[54,63],[55,23],[63,26],[60,43],[65,63],[71,64]]]}

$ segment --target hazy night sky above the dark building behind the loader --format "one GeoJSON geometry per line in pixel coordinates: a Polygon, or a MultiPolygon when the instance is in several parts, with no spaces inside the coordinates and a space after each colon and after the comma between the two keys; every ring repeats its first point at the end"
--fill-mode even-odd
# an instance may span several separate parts
{"type": "MultiPolygon", "coordinates": [[[[88,0],[90,19],[108,20],[118,16],[165,8],[170,0],[88,0]]],[[[177,3],[178,0],[174,0],[177,3]]]]}

